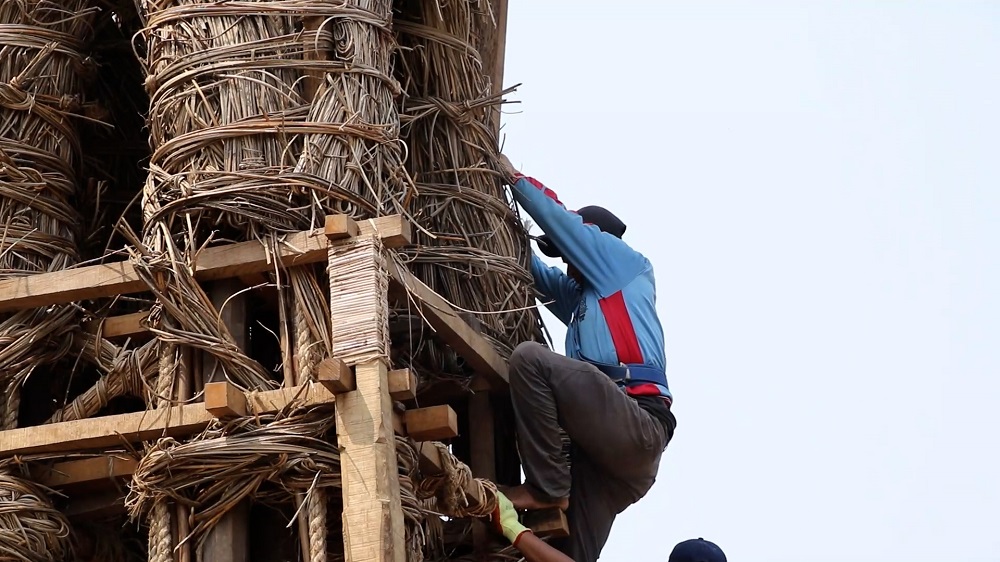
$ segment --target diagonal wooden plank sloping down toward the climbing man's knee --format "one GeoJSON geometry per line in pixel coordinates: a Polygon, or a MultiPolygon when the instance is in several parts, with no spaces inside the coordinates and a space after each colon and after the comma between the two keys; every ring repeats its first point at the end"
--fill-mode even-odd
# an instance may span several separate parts
{"type": "Polygon", "coordinates": [[[507,388],[507,362],[486,339],[459,317],[441,295],[393,260],[386,260],[392,279],[409,290],[421,313],[441,339],[483,375],[496,390],[507,388]]]}

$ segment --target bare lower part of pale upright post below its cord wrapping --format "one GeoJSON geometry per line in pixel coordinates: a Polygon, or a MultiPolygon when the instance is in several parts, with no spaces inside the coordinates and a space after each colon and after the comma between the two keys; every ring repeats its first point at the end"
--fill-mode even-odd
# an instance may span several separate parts
{"type": "Polygon", "coordinates": [[[403,562],[388,368],[376,360],[357,365],[355,371],[357,390],[337,395],[344,553],[351,562],[403,562]]]}

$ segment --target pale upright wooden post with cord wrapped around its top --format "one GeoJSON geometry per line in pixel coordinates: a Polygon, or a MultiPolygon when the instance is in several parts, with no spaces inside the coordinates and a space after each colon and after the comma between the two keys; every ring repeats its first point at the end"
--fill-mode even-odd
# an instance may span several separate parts
{"type": "Polygon", "coordinates": [[[354,366],[336,395],[347,562],[404,562],[388,365],[388,271],[382,243],[352,238],[330,250],[334,357],[354,366]]]}

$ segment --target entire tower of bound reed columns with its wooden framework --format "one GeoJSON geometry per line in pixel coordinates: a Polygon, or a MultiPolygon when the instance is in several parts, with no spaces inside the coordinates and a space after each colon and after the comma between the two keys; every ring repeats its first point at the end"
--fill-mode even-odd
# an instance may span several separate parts
{"type": "Polygon", "coordinates": [[[505,18],[0,0],[0,559],[509,555],[505,18]]]}

